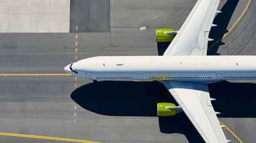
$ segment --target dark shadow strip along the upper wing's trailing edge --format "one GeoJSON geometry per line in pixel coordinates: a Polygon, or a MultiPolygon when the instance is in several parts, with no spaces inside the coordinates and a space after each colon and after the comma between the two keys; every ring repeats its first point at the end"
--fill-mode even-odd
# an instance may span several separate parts
{"type": "Polygon", "coordinates": [[[207,51],[207,55],[220,55],[217,51],[221,45],[225,44],[222,42],[222,37],[228,31],[227,26],[229,25],[238,2],[239,0],[227,0],[220,10],[222,13],[218,13],[213,20],[213,24],[216,24],[217,26],[212,27],[210,30],[209,38],[212,38],[214,41],[208,42],[209,50],[207,51]],[[219,42],[215,44],[218,40],[219,42]]]}

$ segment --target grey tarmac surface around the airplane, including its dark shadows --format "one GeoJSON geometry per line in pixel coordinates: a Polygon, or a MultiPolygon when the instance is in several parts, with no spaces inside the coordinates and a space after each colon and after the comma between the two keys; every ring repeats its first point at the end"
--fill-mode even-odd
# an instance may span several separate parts
{"type": "MultiPolygon", "coordinates": [[[[1,33],[0,73],[64,73],[64,66],[92,56],[161,55],[168,44],[155,42],[155,28],[179,30],[196,0],[73,2],[78,3],[70,3],[71,33],[1,33]],[[91,13],[83,6],[78,8],[83,12],[75,10],[76,5],[87,5],[91,13]],[[99,8],[102,11],[94,10],[99,8]],[[100,15],[108,10],[109,15],[100,15]],[[140,31],[142,26],[147,29],[140,31]]],[[[214,24],[218,26],[212,28],[209,38],[217,40],[232,30],[208,55],[256,55],[255,1],[237,22],[247,3],[220,2],[218,9],[223,13],[216,16],[214,24]]],[[[209,47],[213,44],[209,42],[209,47]]],[[[255,83],[209,84],[211,98],[217,99],[213,107],[222,113],[219,120],[243,142],[256,140],[255,83]]],[[[1,133],[103,143],[203,142],[184,113],[157,117],[158,102],[176,103],[157,82],[93,83],[74,76],[0,76],[0,91],[0,142],[67,142],[1,133]]],[[[227,129],[224,133],[227,139],[240,142],[227,129]]]]}

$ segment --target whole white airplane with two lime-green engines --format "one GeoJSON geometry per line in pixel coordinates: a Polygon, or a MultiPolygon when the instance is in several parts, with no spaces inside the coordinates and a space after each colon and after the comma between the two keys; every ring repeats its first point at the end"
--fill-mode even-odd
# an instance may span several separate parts
{"type": "Polygon", "coordinates": [[[256,56],[207,56],[209,32],[220,0],[198,0],[179,31],[157,29],[157,42],[171,42],[162,56],[97,56],[64,67],[94,81],[160,81],[179,104],[158,103],[158,116],[184,112],[205,142],[230,142],[212,106],[208,85],[255,80],[256,56]]]}

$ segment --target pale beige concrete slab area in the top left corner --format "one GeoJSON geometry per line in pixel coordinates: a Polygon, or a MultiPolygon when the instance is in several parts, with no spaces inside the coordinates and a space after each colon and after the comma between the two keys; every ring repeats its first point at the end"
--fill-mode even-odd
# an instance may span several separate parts
{"type": "Polygon", "coordinates": [[[70,0],[1,0],[0,33],[68,33],[70,0]]]}

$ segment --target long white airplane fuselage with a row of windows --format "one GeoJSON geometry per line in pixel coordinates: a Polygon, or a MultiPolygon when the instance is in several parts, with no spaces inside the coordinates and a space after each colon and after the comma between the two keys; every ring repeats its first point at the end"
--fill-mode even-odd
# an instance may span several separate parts
{"type": "Polygon", "coordinates": [[[214,83],[256,79],[256,56],[97,56],[79,60],[71,69],[65,67],[75,76],[99,81],[214,83]]]}

